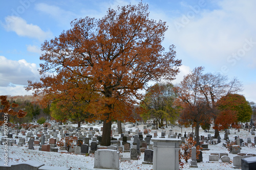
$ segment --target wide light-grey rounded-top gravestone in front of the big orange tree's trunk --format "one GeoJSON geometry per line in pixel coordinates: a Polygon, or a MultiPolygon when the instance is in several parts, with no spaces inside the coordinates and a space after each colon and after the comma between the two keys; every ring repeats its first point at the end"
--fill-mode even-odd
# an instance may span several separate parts
{"type": "Polygon", "coordinates": [[[119,169],[119,151],[98,150],[94,154],[94,168],[119,169]]]}

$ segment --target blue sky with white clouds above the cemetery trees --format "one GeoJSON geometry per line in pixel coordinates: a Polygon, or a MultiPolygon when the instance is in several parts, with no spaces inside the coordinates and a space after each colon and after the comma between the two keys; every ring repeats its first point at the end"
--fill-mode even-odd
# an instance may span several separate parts
{"type": "MultiPolygon", "coordinates": [[[[108,8],[138,4],[131,0],[3,1],[0,7],[0,95],[31,94],[27,81],[39,81],[37,69],[44,40],[70,29],[70,22],[86,16],[101,18],[108,8]]],[[[182,80],[190,70],[204,66],[205,72],[237,77],[248,101],[256,102],[256,1],[162,1],[143,0],[150,18],[166,21],[163,45],[175,44],[182,59],[182,80]]]]}

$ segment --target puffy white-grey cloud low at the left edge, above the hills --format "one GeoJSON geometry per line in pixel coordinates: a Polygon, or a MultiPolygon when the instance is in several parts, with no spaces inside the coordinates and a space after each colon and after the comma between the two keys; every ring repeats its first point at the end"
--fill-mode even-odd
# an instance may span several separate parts
{"type": "Polygon", "coordinates": [[[0,56],[0,87],[7,87],[10,84],[27,85],[28,80],[39,81],[39,73],[34,63],[26,60],[8,60],[0,56]]]}

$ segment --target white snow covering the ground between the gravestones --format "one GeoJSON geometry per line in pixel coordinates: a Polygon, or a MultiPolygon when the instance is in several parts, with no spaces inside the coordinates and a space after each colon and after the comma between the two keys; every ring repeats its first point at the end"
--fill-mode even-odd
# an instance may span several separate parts
{"type": "MultiPolygon", "coordinates": [[[[115,124],[113,124],[115,125],[115,124]]],[[[72,126],[77,126],[77,125],[72,125],[72,126]]],[[[82,125],[82,127],[94,127],[100,129],[100,126],[102,125],[82,125]]],[[[115,125],[117,127],[117,125],[115,125]]],[[[128,128],[129,125],[125,125],[126,130],[133,129],[135,131],[136,129],[140,129],[141,131],[143,130],[143,125],[128,128]]],[[[166,132],[168,133],[168,130],[172,127],[166,128],[166,132]]],[[[151,127],[149,128],[151,129],[151,127]]],[[[178,126],[175,126],[172,128],[174,132],[181,133],[181,129],[178,126]]],[[[155,130],[152,131],[152,134],[155,130]]],[[[161,130],[157,130],[158,135],[161,135],[161,130]]],[[[191,132],[191,128],[182,128],[182,132],[184,133],[191,132]]],[[[247,141],[247,137],[250,137],[251,140],[254,140],[255,135],[251,135],[248,131],[241,130],[240,132],[236,131],[236,134],[234,134],[234,129],[230,129],[230,135],[229,139],[234,140],[234,136],[239,136],[242,138],[244,141],[247,141]]],[[[214,136],[213,131],[211,133],[206,133],[202,129],[200,129],[200,135],[207,136],[207,134],[211,134],[211,136],[214,136]]],[[[14,136],[14,135],[13,135],[14,136]]],[[[21,136],[21,135],[20,135],[21,136]]],[[[154,136],[154,135],[153,135],[154,136]]],[[[222,138],[222,142],[219,144],[209,144],[208,148],[210,149],[209,151],[202,151],[203,152],[203,162],[198,163],[198,168],[190,168],[189,167],[189,162],[185,163],[184,168],[180,169],[233,169],[232,168],[232,161],[233,161],[233,156],[236,156],[235,154],[229,154],[228,150],[226,148],[222,147],[222,143],[225,142],[223,140],[224,138],[224,132],[220,132],[220,136],[222,138]],[[228,156],[230,157],[230,162],[231,163],[223,163],[221,160],[219,162],[211,163],[209,161],[209,155],[210,153],[228,153],[228,156]]],[[[0,138],[3,136],[0,135],[0,138]]],[[[23,136],[24,137],[24,136],[23,136]]],[[[60,136],[58,136],[60,137],[60,136]]],[[[119,135],[120,137],[120,135],[119,135]]],[[[116,138],[119,138],[116,137],[116,138]]],[[[17,140],[18,141],[18,140],[17,140]]],[[[91,141],[90,141],[91,142],[91,141]]],[[[133,142],[133,138],[131,141],[133,142]]],[[[152,143],[153,144],[153,143],[152,143]]],[[[99,146],[98,146],[99,147],[99,146]]],[[[13,164],[16,162],[26,162],[26,161],[36,161],[39,163],[44,163],[45,165],[48,166],[64,166],[71,168],[72,170],[74,169],[93,169],[94,167],[94,155],[90,154],[89,156],[86,155],[75,155],[73,153],[68,153],[67,151],[61,151],[58,150],[58,153],[56,152],[44,152],[44,151],[38,151],[39,146],[34,145],[35,150],[29,150],[28,149],[28,144],[24,144],[23,147],[17,147],[17,144],[13,144],[12,147],[8,147],[8,156],[9,156],[9,164],[13,164]]],[[[3,164],[4,162],[4,152],[5,146],[0,145],[0,164],[3,164]],[[1,156],[2,155],[2,156],[1,156]]],[[[256,153],[256,148],[252,147],[242,147],[241,148],[242,153],[256,153]]],[[[124,157],[130,157],[130,153],[121,153],[123,154],[124,157]]],[[[153,169],[153,165],[147,165],[147,164],[142,164],[142,161],[144,159],[144,153],[141,153],[141,156],[139,157],[139,160],[131,160],[131,162],[120,162],[120,169],[153,169]]],[[[190,161],[190,160],[189,160],[190,161]]]]}

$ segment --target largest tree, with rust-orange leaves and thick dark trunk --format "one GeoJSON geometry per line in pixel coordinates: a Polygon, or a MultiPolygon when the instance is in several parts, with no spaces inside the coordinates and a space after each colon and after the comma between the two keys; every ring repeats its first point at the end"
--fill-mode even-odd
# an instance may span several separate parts
{"type": "Polygon", "coordinates": [[[42,44],[40,82],[27,90],[47,99],[72,97],[86,102],[84,111],[103,120],[102,145],[110,145],[112,120],[127,120],[138,90],[152,80],[173,80],[181,65],[175,46],[161,45],[165,22],[148,18],[142,3],[109,9],[100,18],[80,18],[71,29],[42,44]],[[130,108],[130,109],[129,109],[130,108]]]}

